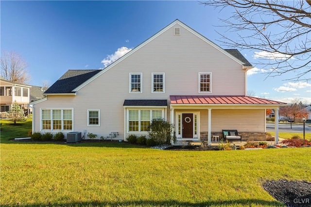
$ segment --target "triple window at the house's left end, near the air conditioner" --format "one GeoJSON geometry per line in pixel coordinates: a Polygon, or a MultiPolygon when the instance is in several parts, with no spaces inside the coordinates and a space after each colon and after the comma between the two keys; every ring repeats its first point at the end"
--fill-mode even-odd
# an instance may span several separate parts
{"type": "Polygon", "coordinates": [[[72,130],[72,109],[42,109],[42,130],[72,130]]]}

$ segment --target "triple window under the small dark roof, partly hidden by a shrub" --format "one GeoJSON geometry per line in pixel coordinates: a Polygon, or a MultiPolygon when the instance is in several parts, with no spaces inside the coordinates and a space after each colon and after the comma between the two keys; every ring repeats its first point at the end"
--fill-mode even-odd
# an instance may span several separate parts
{"type": "Polygon", "coordinates": [[[128,110],[128,131],[146,132],[149,131],[153,119],[163,118],[163,110],[128,110]]]}

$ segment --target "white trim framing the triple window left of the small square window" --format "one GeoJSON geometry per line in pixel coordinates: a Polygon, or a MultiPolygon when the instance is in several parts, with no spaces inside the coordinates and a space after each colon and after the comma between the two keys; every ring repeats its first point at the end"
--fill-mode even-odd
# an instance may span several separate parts
{"type": "MultiPolygon", "coordinates": [[[[40,108],[40,131],[74,131],[74,117],[73,117],[73,108],[40,108]],[[51,112],[51,129],[43,129],[42,125],[42,110],[50,110],[51,112]],[[62,129],[52,129],[53,128],[53,110],[61,110],[61,116],[62,116],[62,129]],[[71,124],[72,124],[72,129],[64,129],[64,110],[71,110],[71,124]]],[[[68,120],[68,119],[65,119],[68,120]]]]}

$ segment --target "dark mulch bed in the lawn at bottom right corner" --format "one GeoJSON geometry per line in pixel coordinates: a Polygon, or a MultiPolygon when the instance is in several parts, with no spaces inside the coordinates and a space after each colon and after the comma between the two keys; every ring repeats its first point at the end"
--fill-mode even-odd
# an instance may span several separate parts
{"type": "Polygon", "coordinates": [[[311,207],[311,183],[306,181],[271,180],[264,190],[288,207],[311,207]]]}

